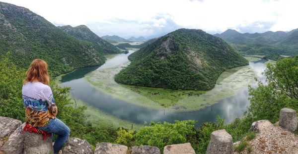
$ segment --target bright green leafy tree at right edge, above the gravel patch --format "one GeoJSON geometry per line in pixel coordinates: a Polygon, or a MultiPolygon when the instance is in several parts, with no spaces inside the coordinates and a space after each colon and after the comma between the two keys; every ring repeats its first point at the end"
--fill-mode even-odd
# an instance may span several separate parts
{"type": "Polygon", "coordinates": [[[245,114],[276,122],[282,108],[298,109],[298,55],[267,64],[263,74],[267,85],[258,81],[258,88],[249,86],[250,107],[245,114]]]}

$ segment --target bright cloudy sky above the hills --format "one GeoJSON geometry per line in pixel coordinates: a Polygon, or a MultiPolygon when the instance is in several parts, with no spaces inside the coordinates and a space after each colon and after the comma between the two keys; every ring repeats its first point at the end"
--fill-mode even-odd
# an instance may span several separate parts
{"type": "Polygon", "coordinates": [[[210,34],[291,31],[298,0],[0,0],[23,6],[56,26],[86,25],[98,36],[125,39],[164,35],[179,28],[210,34]]]}

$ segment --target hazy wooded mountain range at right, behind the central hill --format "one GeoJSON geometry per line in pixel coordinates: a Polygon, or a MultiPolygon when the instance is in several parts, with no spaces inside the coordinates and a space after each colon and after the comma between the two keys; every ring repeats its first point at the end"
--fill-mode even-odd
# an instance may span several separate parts
{"type": "Polygon", "coordinates": [[[291,32],[265,32],[265,33],[239,33],[235,30],[226,30],[222,34],[214,36],[222,38],[237,51],[247,54],[298,54],[298,33],[297,29],[291,32]]]}

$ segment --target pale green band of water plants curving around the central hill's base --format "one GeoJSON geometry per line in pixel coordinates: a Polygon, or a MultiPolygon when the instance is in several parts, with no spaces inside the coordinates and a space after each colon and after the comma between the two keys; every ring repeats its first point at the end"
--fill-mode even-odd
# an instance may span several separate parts
{"type": "MultiPolygon", "coordinates": [[[[250,61],[261,58],[247,57],[250,61]]],[[[114,75],[130,61],[113,67],[98,68],[86,74],[85,79],[97,90],[116,99],[158,110],[194,111],[229,98],[254,81],[256,72],[250,65],[227,70],[220,75],[210,91],[178,91],[161,88],[138,87],[118,84],[114,75]]]]}

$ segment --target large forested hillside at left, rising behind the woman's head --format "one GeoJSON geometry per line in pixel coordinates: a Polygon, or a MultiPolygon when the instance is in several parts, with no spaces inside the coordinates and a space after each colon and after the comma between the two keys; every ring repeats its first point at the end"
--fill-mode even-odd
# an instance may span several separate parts
{"type": "Polygon", "coordinates": [[[48,62],[53,76],[105,61],[103,54],[91,43],[13,4],[0,2],[0,34],[0,55],[9,51],[11,60],[21,67],[28,67],[35,58],[42,58],[48,62]]]}

